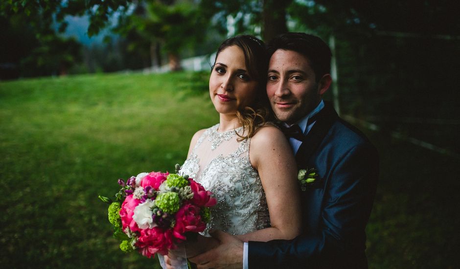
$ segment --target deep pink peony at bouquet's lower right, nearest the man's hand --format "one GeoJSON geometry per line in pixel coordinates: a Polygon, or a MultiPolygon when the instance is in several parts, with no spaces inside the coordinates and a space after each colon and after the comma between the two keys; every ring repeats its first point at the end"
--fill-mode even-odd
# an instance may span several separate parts
{"type": "Polygon", "coordinates": [[[173,234],[176,238],[185,240],[185,232],[202,232],[206,228],[200,215],[200,207],[185,203],[176,213],[176,225],[173,234]]]}

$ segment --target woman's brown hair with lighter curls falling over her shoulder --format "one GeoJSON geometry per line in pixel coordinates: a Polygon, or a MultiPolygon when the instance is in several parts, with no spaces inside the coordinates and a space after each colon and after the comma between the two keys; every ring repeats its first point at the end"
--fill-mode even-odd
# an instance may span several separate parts
{"type": "Polygon", "coordinates": [[[216,59],[225,48],[236,45],[243,50],[246,69],[251,79],[257,81],[256,94],[253,104],[236,112],[238,120],[243,125],[243,135],[237,134],[238,142],[254,135],[257,127],[268,120],[273,120],[273,111],[266,93],[268,57],[264,43],[250,35],[239,35],[225,40],[217,49],[216,59]]]}

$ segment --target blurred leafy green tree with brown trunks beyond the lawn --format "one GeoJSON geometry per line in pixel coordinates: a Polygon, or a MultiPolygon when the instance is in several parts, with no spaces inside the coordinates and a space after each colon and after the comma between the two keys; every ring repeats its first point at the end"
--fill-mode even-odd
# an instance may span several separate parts
{"type": "Polygon", "coordinates": [[[202,40],[206,28],[206,18],[192,2],[157,0],[139,2],[132,14],[120,17],[115,31],[129,38],[130,49],[148,51],[152,65],[161,64],[162,47],[174,71],[181,69],[181,51],[202,40]]]}

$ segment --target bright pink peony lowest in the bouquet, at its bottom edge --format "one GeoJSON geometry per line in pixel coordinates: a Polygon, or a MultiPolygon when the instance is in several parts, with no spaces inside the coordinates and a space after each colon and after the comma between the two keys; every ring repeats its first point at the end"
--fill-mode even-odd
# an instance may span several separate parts
{"type": "Polygon", "coordinates": [[[164,230],[160,227],[140,230],[139,240],[136,243],[143,256],[151,258],[155,253],[167,255],[168,249],[175,249],[174,237],[171,229],[164,230]]]}

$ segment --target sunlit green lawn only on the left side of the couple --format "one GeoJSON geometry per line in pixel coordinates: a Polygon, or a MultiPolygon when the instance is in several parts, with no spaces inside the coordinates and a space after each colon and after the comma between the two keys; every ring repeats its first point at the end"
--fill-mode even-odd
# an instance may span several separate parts
{"type": "Polygon", "coordinates": [[[125,254],[99,194],[117,179],[183,163],[193,134],[218,121],[189,73],[0,82],[0,264],[159,269],[125,254]],[[59,257],[57,259],[56,257],[59,257]]]}

